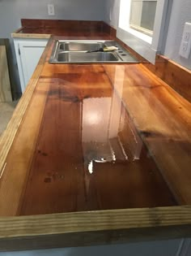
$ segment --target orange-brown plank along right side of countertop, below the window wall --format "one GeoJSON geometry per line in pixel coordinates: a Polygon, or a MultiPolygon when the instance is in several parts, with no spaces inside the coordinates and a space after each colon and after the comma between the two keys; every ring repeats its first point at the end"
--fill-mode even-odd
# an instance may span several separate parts
{"type": "Polygon", "coordinates": [[[125,73],[125,108],[177,200],[190,204],[191,104],[142,65],[105,70],[118,92],[121,76],[113,73],[125,73]]]}

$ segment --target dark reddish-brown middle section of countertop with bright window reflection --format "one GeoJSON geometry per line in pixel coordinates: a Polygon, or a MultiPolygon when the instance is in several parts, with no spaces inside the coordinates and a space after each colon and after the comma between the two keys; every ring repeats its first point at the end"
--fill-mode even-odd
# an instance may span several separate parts
{"type": "Polygon", "coordinates": [[[122,85],[104,97],[91,83],[63,75],[50,85],[20,215],[176,205],[121,102],[122,85]]]}

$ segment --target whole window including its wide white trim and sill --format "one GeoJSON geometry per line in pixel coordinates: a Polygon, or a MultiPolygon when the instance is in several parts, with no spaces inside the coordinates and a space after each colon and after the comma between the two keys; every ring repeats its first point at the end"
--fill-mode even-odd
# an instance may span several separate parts
{"type": "Polygon", "coordinates": [[[155,63],[162,48],[163,31],[171,0],[121,0],[117,37],[155,63]]]}

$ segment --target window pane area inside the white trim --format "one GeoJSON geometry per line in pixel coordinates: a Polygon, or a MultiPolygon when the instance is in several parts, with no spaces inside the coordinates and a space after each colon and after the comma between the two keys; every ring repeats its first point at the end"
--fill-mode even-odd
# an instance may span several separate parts
{"type": "Polygon", "coordinates": [[[131,0],[129,27],[152,36],[157,0],[131,0]]]}

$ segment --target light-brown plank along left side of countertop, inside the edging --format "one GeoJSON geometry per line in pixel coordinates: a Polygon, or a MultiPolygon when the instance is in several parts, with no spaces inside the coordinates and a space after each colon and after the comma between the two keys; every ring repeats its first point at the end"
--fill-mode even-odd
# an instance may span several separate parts
{"type": "Polygon", "coordinates": [[[32,95],[30,108],[23,116],[0,179],[0,215],[18,215],[23,189],[28,180],[28,167],[36,145],[49,83],[39,81],[32,95]],[[43,97],[42,97],[43,96],[43,97]],[[14,188],[13,188],[14,184],[14,188]]]}

